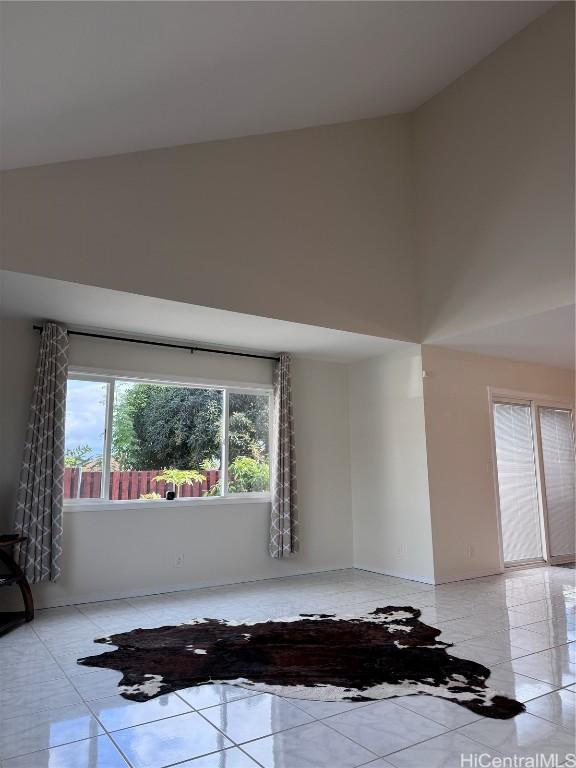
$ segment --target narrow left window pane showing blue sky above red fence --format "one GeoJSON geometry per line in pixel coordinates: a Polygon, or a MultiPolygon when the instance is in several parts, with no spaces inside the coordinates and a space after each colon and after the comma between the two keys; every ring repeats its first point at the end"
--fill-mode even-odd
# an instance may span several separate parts
{"type": "Polygon", "coordinates": [[[64,498],[94,499],[102,492],[108,384],[68,380],[64,498]]]}

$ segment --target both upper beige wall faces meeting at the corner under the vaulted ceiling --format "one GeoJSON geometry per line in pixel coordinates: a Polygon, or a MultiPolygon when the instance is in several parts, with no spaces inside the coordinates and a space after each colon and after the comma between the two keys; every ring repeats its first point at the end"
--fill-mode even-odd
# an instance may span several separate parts
{"type": "Polygon", "coordinates": [[[573,303],[573,59],[561,2],[409,115],[5,172],[4,267],[410,341],[573,303]]]}

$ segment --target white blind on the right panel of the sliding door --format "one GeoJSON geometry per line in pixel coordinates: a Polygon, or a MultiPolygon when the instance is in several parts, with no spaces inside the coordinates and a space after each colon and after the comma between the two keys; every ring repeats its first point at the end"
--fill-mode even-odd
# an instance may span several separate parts
{"type": "Polygon", "coordinates": [[[550,555],[572,555],[574,524],[574,438],[572,412],[539,408],[550,555]]]}

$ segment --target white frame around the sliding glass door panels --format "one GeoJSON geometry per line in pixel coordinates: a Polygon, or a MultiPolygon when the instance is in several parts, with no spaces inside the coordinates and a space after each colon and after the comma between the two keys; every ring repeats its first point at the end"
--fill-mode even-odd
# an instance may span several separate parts
{"type": "Polygon", "coordinates": [[[500,570],[503,573],[506,570],[514,568],[533,568],[538,565],[557,565],[569,563],[574,560],[574,555],[550,554],[550,536],[548,509],[546,505],[546,483],[544,479],[544,463],[542,457],[542,435],[540,429],[540,419],[538,417],[538,408],[553,407],[562,410],[568,410],[572,414],[572,440],[574,442],[574,403],[564,397],[553,397],[542,395],[535,392],[521,392],[518,390],[504,389],[502,387],[488,387],[488,403],[490,411],[490,444],[492,454],[492,478],[494,483],[494,499],[496,504],[496,518],[498,529],[498,557],[500,561],[500,570]],[[534,461],[536,469],[536,484],[538,486],[538,510],[540,520],[540,536],[542,539],[542,559],[538,558],[526,562],[511,563],[506,565],[504,562],[504,546],[502,538],[502,515],[500,511],[500,487],[498,484],[498,462],[496,458],[496,431],[494,428],[494,404],[510,403],[511,405],[528,405],[532,416],[532,436],[534,441],[534,461]]]}

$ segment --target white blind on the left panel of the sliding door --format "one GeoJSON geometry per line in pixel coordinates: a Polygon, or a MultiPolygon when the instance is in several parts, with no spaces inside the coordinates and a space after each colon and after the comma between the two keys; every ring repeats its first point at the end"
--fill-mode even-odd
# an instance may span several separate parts
{"type": "Polygon", "coordinates": [[[540,508],[530,406],[495,403],[494,434],[504,562],[541,559],[540,508]]]}

